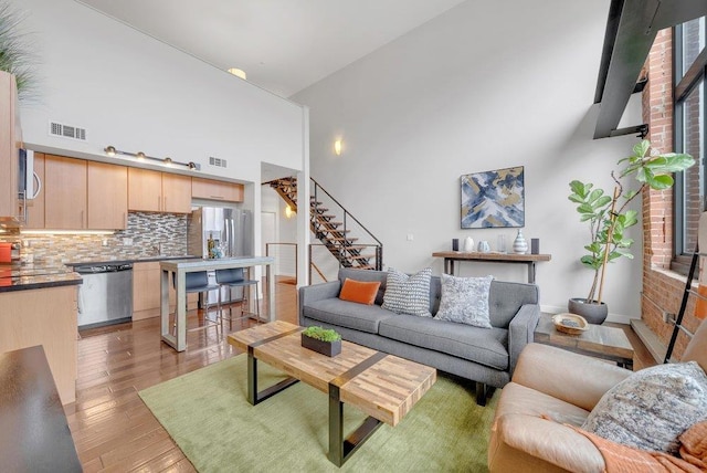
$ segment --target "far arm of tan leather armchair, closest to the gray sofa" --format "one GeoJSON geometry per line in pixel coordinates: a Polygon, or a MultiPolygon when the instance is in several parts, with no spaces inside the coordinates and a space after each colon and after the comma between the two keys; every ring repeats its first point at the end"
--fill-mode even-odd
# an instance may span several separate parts
{"type": "Polygon", "coordinates": [[[591,411],[609,389],[631,372],[598,358],[529,344],[520,354],[513,380],[591,411]]]}

